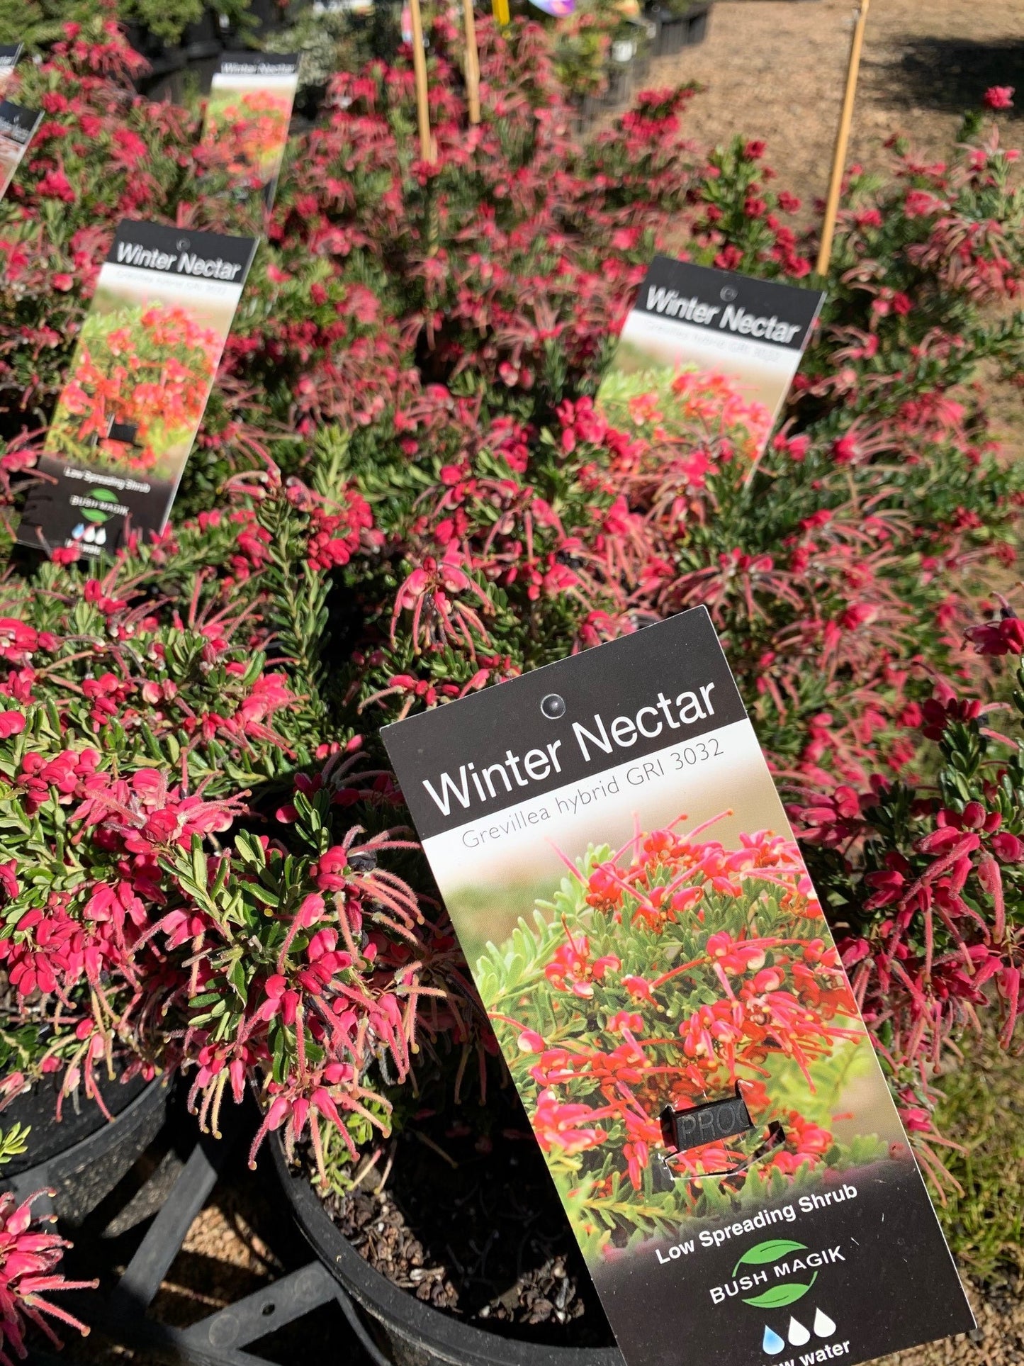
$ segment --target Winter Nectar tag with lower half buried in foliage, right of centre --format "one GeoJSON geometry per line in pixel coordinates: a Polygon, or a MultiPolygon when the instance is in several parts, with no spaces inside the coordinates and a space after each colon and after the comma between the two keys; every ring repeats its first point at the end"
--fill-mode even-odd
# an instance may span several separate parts
{"type": "Polygon", "coordinates": [[[706,414],[756,460],[793,382],[825,295],[655,257],[618,337],[598,406],[624,432],[706,414]]]}

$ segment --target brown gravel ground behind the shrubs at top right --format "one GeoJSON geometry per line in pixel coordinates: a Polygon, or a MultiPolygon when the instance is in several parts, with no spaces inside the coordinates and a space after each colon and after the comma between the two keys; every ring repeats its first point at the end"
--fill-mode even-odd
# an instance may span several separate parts
{"type": "MultiPolygon", "coordinates": [[[[827,190],[852,27],[851,0],[720,0],[706,41],[658,59],[649,85],[699,82],[687,133],[700,145],[765,138],[781,183],[812,208],[827,190]]],[[[990,85],[1016,85],[1024,107],[1023,0],[872,0],[851,160],[883,168],[894,133],[941,158],[990,85]]],[[[1017,109],[1017,138],[1021,122],[1017,109]]]]}

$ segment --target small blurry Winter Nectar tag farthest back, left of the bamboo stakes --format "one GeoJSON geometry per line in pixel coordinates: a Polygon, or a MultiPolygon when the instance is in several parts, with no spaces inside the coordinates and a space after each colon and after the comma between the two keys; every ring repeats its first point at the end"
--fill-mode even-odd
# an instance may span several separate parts
{"type": "Polygon", "coordinates": [[[210,82],[201,143],[228,154],[269,209],[299,86],[296,52],[225,52],[210,82]]]}

